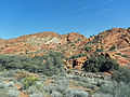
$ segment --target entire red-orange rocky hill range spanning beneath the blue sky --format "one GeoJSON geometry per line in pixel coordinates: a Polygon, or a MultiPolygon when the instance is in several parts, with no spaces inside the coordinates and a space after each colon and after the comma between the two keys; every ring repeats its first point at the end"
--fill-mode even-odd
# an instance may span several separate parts
{"type": "Polygon", "coordinates": [[[58,34],[46,31],[18,38],[0,39],[0,54],[16,54],[34,57],[49,52],[61,52],[66,56],[65,68],[81,69],[82,64],[90,56],[106,56],[118,61],[120,66],[130,64],[130,28],[113,28],[86,38],[80,33],[72,32],[58,34]]]}

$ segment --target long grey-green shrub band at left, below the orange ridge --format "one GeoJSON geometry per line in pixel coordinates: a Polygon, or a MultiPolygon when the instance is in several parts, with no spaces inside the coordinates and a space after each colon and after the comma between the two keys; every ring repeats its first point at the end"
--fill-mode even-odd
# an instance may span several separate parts
{"type": "Polygon", "coordinates": [[[0,55],[0,68],[3,69],[24,69],[30,72],[39,72],[46,75],[64,73],[64,56],[61,53],[50,52],[44,56],[28,58],[17,55],[0,55]],[[43,63],[46,61],[46,63],[43,63]]]}

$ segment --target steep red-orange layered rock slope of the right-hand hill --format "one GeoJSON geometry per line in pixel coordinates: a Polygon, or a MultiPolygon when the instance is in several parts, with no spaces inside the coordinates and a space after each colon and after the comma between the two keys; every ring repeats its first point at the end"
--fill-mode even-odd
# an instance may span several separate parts
{"type": "MultiPolygon", "coordinates": [[[[104,44],[104,50],[107,54],[116,59],[121,66],[130,64],[130,28],[113,28],[96,37],[101,38],[101,42],[104,44]],[[108,51],[112,46],[115,46],[115,51],[108,51]]],[[[128,66],[129,67],[129,66],[128,66]]]]}

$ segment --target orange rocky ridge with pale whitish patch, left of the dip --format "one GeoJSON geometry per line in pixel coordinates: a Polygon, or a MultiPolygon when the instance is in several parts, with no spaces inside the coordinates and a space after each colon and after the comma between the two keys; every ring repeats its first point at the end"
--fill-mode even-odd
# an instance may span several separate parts
{"type": "Polygon", "coordinates": [[[0,53],[34,56],[42,55],[54,50],[56,52],[63,52],[66,56],[72,56],[81,52],[80,47],[87,43],[87,38],[76,32],[63,36],[50,31],[40,32],[10,40],[1,40],[0,53]],[[67,50],[69,52],[65,52],[67,50]]]}

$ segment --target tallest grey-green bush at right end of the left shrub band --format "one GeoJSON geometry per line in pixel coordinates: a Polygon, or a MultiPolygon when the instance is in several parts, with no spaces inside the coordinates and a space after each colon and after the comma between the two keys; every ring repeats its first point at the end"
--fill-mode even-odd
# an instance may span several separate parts
{"type": "Polygon", "coordinates": [[[62,58],[63,55],[60,53],[50,53],[46,64],[41,66],[43,74],[49,77],[64,74],[62,58]]]}

